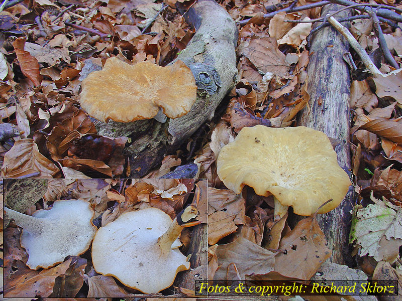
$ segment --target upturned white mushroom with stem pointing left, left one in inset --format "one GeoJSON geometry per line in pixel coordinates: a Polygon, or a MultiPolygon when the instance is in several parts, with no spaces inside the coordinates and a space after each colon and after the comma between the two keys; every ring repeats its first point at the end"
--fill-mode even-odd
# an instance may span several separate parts
{"type": "Polygon", "coordinates": [[[21,245],[31,269],[49,268],[68,255],[84,253],[97,229],[92,224],[94,211],[84,200],[55,201],[50,210],[38,210],[32,216],[7,207],[4,212],[23,228],[21,245]]]}

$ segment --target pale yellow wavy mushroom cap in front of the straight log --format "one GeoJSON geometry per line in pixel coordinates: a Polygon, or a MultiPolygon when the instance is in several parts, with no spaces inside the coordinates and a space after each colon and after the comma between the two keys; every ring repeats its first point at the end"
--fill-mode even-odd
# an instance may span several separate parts
{"type": "Polygon", "coordinates": [[[298,215],[315,213],[329,199],[318,213],[334,209],[351,185],[327,135],[305,126],[244,127],[219,153],[217,173],[234,192],[248,185],[258,195],[271,193],[298,215]]]}

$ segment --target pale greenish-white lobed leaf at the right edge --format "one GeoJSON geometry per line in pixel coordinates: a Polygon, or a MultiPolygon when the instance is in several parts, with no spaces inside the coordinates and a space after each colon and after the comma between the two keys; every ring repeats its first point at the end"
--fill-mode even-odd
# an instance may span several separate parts
{"type": "Polygon", "coordinates": [[[397,255],[398,245],[402,244],[402,210],[390,203],[372,198],[376,204],[360,208],[352,219],[350,243],[361,246],[359,255],[369,255],[380,261],[392,253],[397,255]],[[386,206],[385,206],[386,204],[386,206]],[[397,211],[395,211],[397,210],[397,211]],[[382,240],[385,237],[386,240],[382,240]],[[398,240],[398,245],[394,241],[398,240]],[[389,246],[387,246],[389,242],[389,246]],[[387,250],[395,247],[396,250],[387,250]],[[383,250],[385,248],[385,250],[383,250]]]}

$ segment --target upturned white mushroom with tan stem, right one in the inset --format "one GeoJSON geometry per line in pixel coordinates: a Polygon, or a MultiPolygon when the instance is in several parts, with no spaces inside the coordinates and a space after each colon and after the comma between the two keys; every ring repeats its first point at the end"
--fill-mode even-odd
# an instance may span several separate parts
{"type": "Polygon", "coordinates": [[[190,262],[178,250],[178,236],[185,223],[196,215],[197,209],[192,205],[173,221],[152,207],[122,214],[96,232],[93,267],[144,293],[169,287],[178,272],[190,268],[190,262]]]}

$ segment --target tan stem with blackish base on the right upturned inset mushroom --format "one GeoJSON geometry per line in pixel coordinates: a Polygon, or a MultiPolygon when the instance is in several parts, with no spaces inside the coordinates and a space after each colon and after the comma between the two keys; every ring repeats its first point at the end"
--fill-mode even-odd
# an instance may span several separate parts
{"type": "Polygon", "coordinates": [[[184,224],[190,219],[193,219],[198,214],[198,210],[195,206],[189,205],[177,214],[176,218],[170,224],[165,233],[158,238],[158,245],[162,250],[162,253],[167,253],[173,244],[173,242],[179,237],[181,230],[184,228],[184,224]]]}

